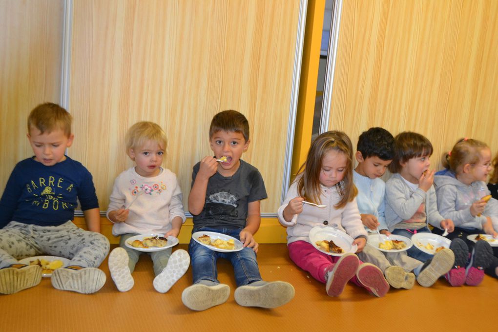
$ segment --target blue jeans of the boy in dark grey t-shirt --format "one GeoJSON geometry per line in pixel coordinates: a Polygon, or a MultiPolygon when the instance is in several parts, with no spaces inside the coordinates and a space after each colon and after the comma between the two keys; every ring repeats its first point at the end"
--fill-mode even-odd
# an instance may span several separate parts
{"type": "MultiPolygon", "coordinates": [[[[194,228],[193,232],[203,230],[223,233],[240,239],[240,229],[200,227],[194,228]]],[[[256,261],[256,253],[252,248],[246,247],[241,251],[235,252],[217,252],[197,243],[194,239],[190,239],[188,252],[192,263],[194,284],[197,284],[201,280],[210,280],[217,284],[220,283],[218,281],[218,269],[216,267],[216,262],[220,257],[228,259],[232,263],[235,281],[238,287],[248,285],[255,281],[261,281],[261,275],[259,274],[259,267],[257,266],[256,261]]]]}

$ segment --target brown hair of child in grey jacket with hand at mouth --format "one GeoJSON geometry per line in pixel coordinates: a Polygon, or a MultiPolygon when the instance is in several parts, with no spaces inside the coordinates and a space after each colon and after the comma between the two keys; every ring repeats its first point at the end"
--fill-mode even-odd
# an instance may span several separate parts
{"type": "Polygon", "coordinates": [[[431,156],[434,151],[427,137],[411,131],[403,131],[394,137],[394,158],[389,165],[391,173],[399,173],[401,163],[411,158],[431,156]]]}

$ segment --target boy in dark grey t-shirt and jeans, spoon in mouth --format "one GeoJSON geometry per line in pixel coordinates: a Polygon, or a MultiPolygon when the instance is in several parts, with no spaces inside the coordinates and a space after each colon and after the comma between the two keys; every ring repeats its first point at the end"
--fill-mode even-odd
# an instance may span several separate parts
{"type": "Polygon", "coordinates": [[[211,149],[215,157],[206,156],[194,166],[189,211],[194,216],[193,233],[221,233],[243,243],[241,250],[222,250],[189,243],[193,285],[182,293],[182,302],[192,310],[202,311],[225,303],[230,287],[220,284],[216,262],[231,261],[237,289],[235,301],[246,307],[276,308],[294,297],[294,287],[283,281],[265,282],[256,261],[258,244],[254,233],[259,228],[260,200],[266,198],[259,171],[241,160],[249,146],[249,122],[237,111],[222,111],[211,121],[211,149]]]}

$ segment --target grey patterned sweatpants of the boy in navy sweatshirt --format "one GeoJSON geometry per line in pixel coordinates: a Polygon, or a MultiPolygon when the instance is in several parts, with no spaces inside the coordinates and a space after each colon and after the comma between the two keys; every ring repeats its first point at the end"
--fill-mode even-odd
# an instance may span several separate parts
{"type": "Polygon", "coordinates": [[[72,221],[59,226],[10,221],[0,229],[0,268],[42,254],[68,258],[71,265],[99,267],[108,253],[107,237],[84,230],[72,221]]]}

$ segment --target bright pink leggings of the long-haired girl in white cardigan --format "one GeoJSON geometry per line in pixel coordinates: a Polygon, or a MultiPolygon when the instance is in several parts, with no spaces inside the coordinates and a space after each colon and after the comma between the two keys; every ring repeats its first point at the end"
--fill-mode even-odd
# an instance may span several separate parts
{"type": "MultiPolygon", "coordinates": [[[[316,280],[326,283],[325,268],[335,265],[339,260],[338,256],[327,255],[317,250],[311,243],[306,241],[295,241],[289,243],[289,257],[297,266],[311,274],[316,280]]],[[[360,264],[363,262],[360,261],[360,264]]],[[[355,285],[364,287],[357,279],[356,275],[350,280],[355,285]]]]}

